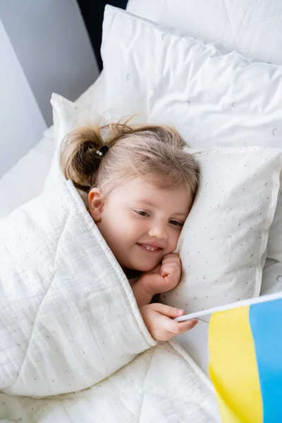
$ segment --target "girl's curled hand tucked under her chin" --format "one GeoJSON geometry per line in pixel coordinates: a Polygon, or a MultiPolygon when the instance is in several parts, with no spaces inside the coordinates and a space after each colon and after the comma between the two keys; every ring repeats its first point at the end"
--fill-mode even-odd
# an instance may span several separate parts
{"type": "Polygon", "coordinates": [[[181,276],[181,261],[178,254],[167,254],[159,266],[147,271],[139,278],[140,283],[151,295],[166,293],[175,288],[181,276]]]}

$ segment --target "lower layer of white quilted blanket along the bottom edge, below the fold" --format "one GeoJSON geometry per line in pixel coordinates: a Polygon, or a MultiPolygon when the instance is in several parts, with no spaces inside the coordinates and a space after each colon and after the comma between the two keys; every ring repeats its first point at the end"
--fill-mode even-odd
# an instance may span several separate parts
{"type": "Polygon", "coordinates": [[[0,403],[1,423],[220,422],[210,382],[176,343],[159,343],[84,391],[40,400],[0,393],[0,403]]]}

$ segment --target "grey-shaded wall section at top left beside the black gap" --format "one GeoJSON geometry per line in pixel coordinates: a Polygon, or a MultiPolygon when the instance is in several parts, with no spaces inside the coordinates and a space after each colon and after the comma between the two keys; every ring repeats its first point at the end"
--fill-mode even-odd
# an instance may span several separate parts
{"type": "Polygon", "coordinates": [[[99,75],[78,4],[75,0],[0,0],[0,19],[39,109],[51,125],[51,93],[73,101],[99,75]]]}

